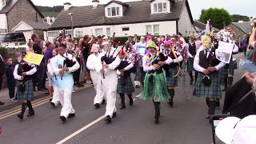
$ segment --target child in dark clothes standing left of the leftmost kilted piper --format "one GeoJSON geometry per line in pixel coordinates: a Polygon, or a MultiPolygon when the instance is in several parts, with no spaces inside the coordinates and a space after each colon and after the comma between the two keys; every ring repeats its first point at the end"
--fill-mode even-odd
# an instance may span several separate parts
{"type": "Polygon", "coordinates": [[[10,101],[15,101],[14,92],[15,92],[15,79],[14,79],[14,66],[13,59],[6,58],[6,77],[7,77],[7,86],[9,90],[10,101]]]}

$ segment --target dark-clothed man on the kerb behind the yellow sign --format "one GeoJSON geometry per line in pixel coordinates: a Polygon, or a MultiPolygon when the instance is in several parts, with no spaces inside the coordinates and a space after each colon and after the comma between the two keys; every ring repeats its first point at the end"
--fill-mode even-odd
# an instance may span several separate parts
{"type": "MultiPolygon", "coordinates": [[[[38,34],[32,34],[31,39],[33,40],[33,50],[35,54],[42,54],[42,41],[39,41],[38,34]]],[[[46,64],[45,59],[42,58],[42,62],[38,66],[37,71],[38,76],[38,91],[39,92],[46,92],[48,90],[46,88],[46,64]]],[[[35,88],[35,85],[34,85],[35,88]]]]}

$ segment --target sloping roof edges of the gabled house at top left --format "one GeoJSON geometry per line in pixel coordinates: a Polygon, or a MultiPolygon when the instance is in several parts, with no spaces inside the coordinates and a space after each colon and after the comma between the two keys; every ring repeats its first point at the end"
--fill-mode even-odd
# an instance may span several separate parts
{"type": "MultiPolygon", "coordinates": [[[[6,0],[6,6],[4,6],[2,8],[2,10],[0,10],[0,14],[6,14],[8,13],[14,6],[15,4],[18,2],[19,0],[6,0]]],[[[27,0],[28,2],[30,2],[30,4],[34,7],[34,9],[38,12],[38,14],[40,14],[40,16],[42,18],[44,18],[44,16],[42,15],[42,13],[38,10],[37,6],[34,6],[34,3],[31,0],[27,0]]]]}

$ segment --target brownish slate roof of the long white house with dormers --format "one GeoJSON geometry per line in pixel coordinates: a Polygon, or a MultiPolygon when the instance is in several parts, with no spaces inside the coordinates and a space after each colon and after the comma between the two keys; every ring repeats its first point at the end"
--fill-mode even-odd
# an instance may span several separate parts
{"type": "MultiPolygon", "coordinates": [[[[73,13],[74,27],[86,27],[140,22],[175,21],[180,18],[182,8],[183,6],[185,6],[185,3],[186,6],[188,6],[187,0],[179,0],[175,2],[174,5],[170,8],[170,13],[151,14],[150,2],[148,1],[123,3],[128,5],[128,7],[126,8],[122,17],[115,18],[105,17],[105,5],[98,5],[96,9],[92,9],[92,6],[71,6],[70,10],[62,10],[61,13],[58,14],[58,17],[50,26],[50,30],[70,28],[70,13],[73,13]]],[[[193,23],[193,18],[191,14],[190,19],[193,23]]]]}

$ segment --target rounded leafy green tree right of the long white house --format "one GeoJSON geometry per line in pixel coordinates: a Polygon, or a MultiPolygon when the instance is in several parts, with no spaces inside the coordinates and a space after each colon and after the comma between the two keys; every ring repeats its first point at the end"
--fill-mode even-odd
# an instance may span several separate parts
{"type": "Polygon", "coordinates": [[[224,23],[225,26],[230,25],[232,22],[230,14],[224,9],[210,8],[208,10],[202,10],[199,21],[206,23],[208,20],[211,20],[212,26],[223,29],[224,23]]]}

